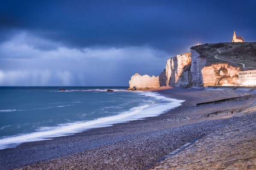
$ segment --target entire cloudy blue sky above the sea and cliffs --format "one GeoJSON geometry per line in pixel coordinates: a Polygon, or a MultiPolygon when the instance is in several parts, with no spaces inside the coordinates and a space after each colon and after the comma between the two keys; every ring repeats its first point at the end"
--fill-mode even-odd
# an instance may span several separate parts
{"type": "Polygon", "coordinates": [[[199,43],[256,42],[256,0],[0,0],[0,86],[129,86],[199,43]]]}

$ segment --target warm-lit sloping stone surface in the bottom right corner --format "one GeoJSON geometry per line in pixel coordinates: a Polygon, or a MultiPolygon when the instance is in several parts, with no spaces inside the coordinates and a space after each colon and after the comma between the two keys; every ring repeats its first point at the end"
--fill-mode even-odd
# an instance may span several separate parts
{"type": "Polygon", "coordinates": [[[238,121],[206,135],[153,170],[256,169],[256,107],[238,121]]]}

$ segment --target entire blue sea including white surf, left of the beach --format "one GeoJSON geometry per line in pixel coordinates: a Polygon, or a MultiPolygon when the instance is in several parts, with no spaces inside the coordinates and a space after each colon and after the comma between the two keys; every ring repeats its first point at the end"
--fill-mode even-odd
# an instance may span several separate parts
{"type": "Polygon", "coordinates": [[[0,86],[0,150],[158,116],[183,102],[127,88],[0,86]]]}

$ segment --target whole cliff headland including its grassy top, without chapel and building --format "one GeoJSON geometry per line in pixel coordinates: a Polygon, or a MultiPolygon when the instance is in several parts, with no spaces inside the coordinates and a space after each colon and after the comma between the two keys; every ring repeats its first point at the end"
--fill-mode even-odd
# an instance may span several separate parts
{"type": "Polygon", "coordinates": [[[157,77],[133,75],[129,81],[129,89],[135,87],[136,90],[142,90],[160,86],[202,88],[238,84],[238,72],[242,70],[239,63],[246,63],[247,69],[256,69],[256,43],[203,44],[193,46],[190,50],[191,52],[169,58],[164,71],[157,77]],[[216,55],[223,60],[215,58],[216,55]]]}

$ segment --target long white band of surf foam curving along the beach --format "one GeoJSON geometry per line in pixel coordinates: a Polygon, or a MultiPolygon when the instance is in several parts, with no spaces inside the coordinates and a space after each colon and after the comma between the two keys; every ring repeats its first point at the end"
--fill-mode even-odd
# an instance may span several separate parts
{"type": "Polygon", "coordinates": [[[134,107],[132,109],[129,109],[128,111],[121,112],[119,115],[113,115],[105,118],[97,118],[96,120],[92,121],[77,121],[73,123],[59,124],[59,126],[56,127],[40,127],[38,129],[38,132],[9,136],[0,139],[0,149],[15,147],[23,142],[48,140],[53,137],[70,135],[91,128],[107,127],[112,126],[112,124],[116,123],[157,116],[164,113],[166,110],[180,106],[183,102],[182,100],[166,98],[156,92],[141,92],[140,94],[154,97],[164,102],[134,107]]]}

